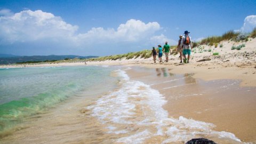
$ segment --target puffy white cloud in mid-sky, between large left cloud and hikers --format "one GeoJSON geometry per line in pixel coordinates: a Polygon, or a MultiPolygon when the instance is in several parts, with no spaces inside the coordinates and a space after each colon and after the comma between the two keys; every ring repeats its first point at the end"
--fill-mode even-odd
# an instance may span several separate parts
{"type": "Polygon", "coordinates": [[[81,41],[92,42],[138,42],[161,29],[157,22],[144,23],[140,20],[128,20],[126,23],[119,25],[117,30],[92,28],[85,34],[79,34],[78,39],[81,41]]]}

